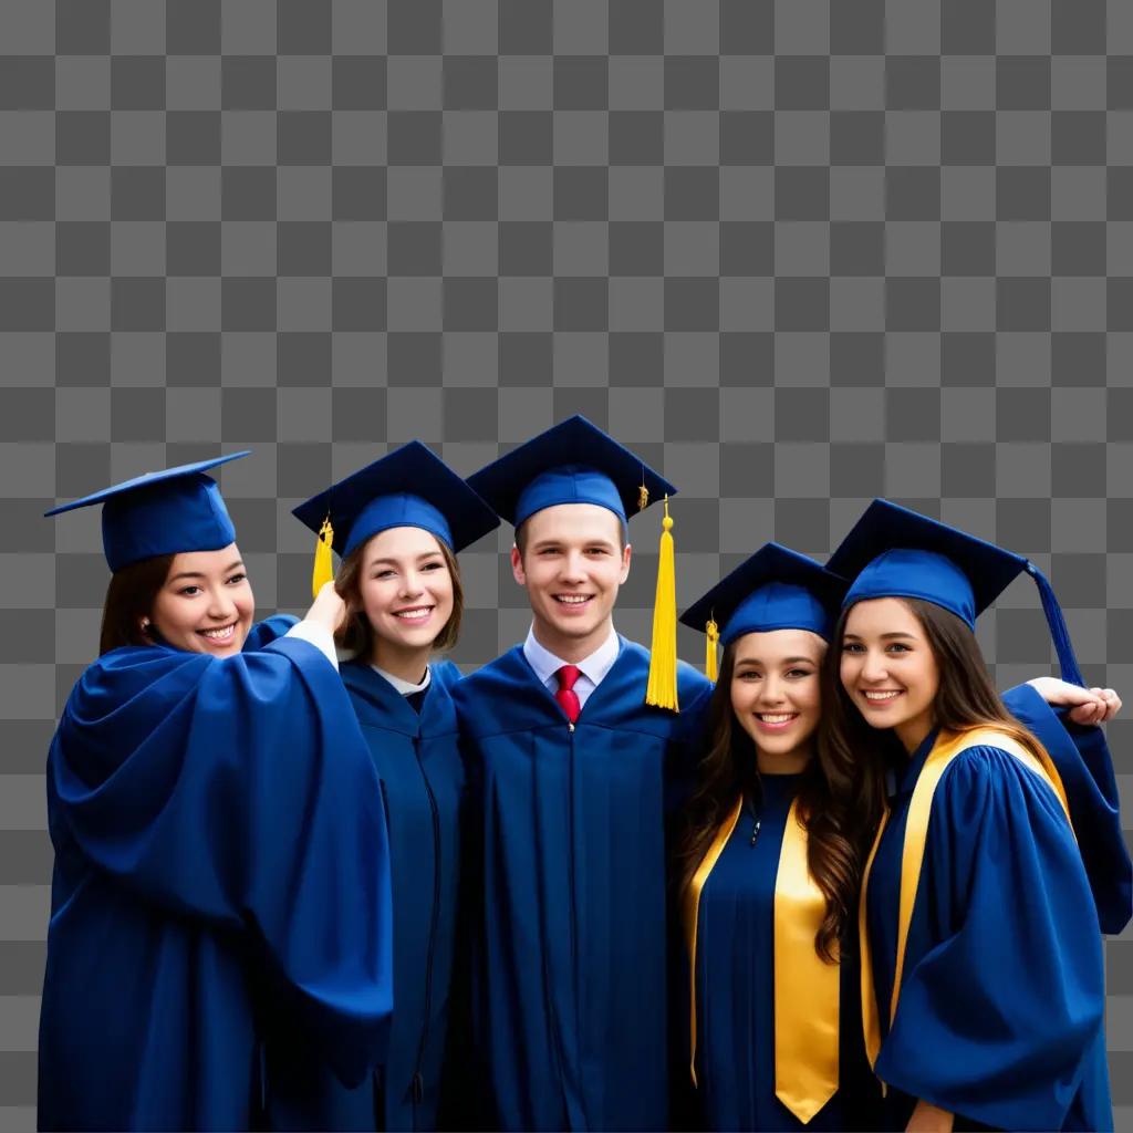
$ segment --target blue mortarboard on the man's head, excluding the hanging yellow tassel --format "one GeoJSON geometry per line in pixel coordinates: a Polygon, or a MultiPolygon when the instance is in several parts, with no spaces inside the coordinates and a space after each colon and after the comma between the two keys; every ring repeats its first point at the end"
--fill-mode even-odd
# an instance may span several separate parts
{"type": "Polygon", "coordinates": [[[668,480],[578,415],[482,468],[468,483],[513,527],[561,503],[597,504],[625,522],[640,510],[642,486],[646,506],[676,495],[668,480]]]}

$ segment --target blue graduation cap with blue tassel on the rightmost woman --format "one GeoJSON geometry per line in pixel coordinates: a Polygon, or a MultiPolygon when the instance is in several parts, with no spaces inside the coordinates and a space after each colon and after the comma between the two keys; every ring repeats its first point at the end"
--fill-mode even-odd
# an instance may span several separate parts
{"type": "Polygon", "coordinates": [[[1063,680],[1084,683],[1058,599],[1039,568],[1022,555],[888,500],[875,500],[826,566],[853,579],[843,608],[868,598],[920,598],[955,614],[971,630],[1025,572],[1038,587],[1063,680]]]}

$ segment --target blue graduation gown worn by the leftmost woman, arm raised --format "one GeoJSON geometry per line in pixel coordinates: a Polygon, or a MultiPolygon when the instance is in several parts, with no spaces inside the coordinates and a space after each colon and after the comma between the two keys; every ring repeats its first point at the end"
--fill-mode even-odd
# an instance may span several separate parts
{"type": "Polygon", "coordinates": [[[116,649],[67,701],[48,757],[42,1128],[248,1128],[271,1013],[346,1082],[382,1050],[377,776],[334,667],[271,640],[288,624],[236,657],[116,649]]]}

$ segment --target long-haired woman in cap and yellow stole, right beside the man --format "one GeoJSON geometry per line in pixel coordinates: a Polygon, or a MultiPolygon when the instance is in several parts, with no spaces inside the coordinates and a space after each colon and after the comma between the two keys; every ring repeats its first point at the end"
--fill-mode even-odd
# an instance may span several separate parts
{"type": "Polygon", "coordinates": [[[769,543],[682,617],[712,659],[717,621],[724,646],[678,853],[707,1128],[876,1125],[850,931],[862,835],[851,777],[815,750],[844,591],[769,543]]]}

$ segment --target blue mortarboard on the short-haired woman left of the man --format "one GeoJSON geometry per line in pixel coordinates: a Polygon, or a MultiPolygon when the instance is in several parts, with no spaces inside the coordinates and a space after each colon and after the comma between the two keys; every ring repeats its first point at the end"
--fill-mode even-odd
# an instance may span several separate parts
{"type": "Polygon", "coordinates": [[[453,552],[495,530],[495,512],[432,450],[410,441],[292,512],[318,533],[330,516],[343,557],[391,527],[420,527],[453,552]]]}

